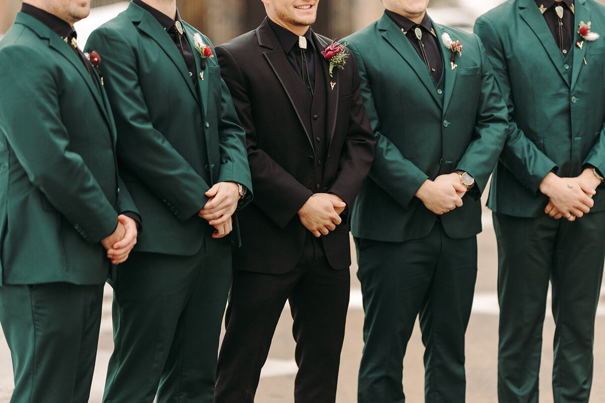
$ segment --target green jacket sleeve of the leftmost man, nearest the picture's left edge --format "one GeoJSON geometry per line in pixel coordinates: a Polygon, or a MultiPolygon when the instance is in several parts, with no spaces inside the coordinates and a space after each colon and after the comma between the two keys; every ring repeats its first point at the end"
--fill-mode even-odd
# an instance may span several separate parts
{"type": "MultiPolygon", "coordinates": [[[[30,48],[4,48],[0,58],[0,132],[30,181],[85,240],[100,242],[117,227],[117,213],[82,160],[70,151],[60,91],[45,60],[30,48]]],[[[58,68],[58,67],[57,67],[58,68]]],[[[77,105],[73,111],[77,113],[77,105]]]]}

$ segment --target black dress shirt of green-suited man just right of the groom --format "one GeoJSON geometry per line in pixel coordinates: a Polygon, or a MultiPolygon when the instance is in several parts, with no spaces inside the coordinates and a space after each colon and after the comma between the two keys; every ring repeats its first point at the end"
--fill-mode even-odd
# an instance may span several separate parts
{"type": "Polygon", "coordinates": [[[410,44],[414,47],[420,59],[426,64],[428,62],[428,69],[433,76],[436,83],[441,79],[443,73],[443,59],[441,56],[441,50],[439,48],[439,39],[437,39],[433,24],[428,15],[425,14],[424,19],[420,24],[416,24],[414,21],[401,16],[393,11],[387,10],[387,15],[393,20],[397,27],[404,31],[405,36],[410,40],[410,44]],[[416,37],[415,30],[420,28],[422,30],[422,39],[418,40],[416,37]],[[425,56],[422,54],[422,48],[424,48],[425,56]]]}

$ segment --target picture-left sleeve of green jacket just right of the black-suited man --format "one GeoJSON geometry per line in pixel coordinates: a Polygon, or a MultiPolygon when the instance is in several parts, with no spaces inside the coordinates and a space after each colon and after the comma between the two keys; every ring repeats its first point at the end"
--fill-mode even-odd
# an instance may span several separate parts
{"type": "Polygon", "coordinates": [[[370,119],[376,137],[374,162],[370,168],[369,176],[402,207],[408,208],[417,190],[429,177],[410,160],[404,158],[399,149],[386,136],[382,135],[378,112],[374,108],[374,94],[372,94],[368,82],[364,59],[355,44],[350,43],[348,48],[355,57],[365,112],[370,119]]]}

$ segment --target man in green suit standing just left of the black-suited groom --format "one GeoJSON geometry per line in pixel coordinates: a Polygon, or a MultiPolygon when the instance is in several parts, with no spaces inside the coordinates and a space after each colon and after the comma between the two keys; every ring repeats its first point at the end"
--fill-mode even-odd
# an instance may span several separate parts
{"type": "Polygon", "coordinates": [[[211,42],[181,21],[175,0],[132,1],[87,48],[106,60],[119,163],[145,219],[113,283],[104,401],[212,402],[239,243],[233,214],[252,196],[231,94],[211,42]]]}

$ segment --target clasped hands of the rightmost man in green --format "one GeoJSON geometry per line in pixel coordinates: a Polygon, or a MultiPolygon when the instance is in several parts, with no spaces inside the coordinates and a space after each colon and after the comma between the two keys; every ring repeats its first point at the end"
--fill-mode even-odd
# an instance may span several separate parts
{"type": "Polygon", "coordinates": [[[560,178],[549,172],[540,183],[540,192],[549,198],[544,212],[554,219],[564,217],[575,221],[594,206],[592,196],[597,194],[600,184],[591,168],[584,169],[575,178],[560,178]]]}

